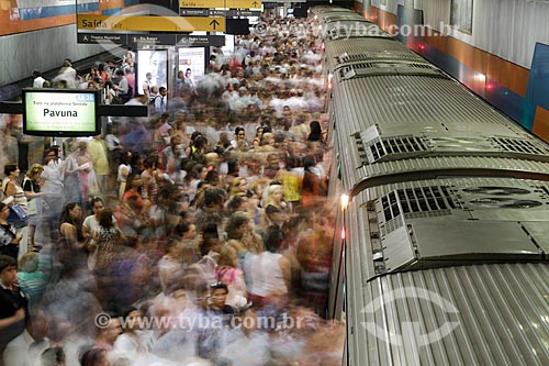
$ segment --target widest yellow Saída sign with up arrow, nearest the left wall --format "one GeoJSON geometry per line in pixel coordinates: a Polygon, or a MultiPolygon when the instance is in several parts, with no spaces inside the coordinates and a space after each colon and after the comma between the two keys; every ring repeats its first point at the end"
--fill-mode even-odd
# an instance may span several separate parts
{"type": "Polygon", "coordinates": [[[223,32],[224,18],[77,14],[79,30],[136,32],[223,32]]]}

